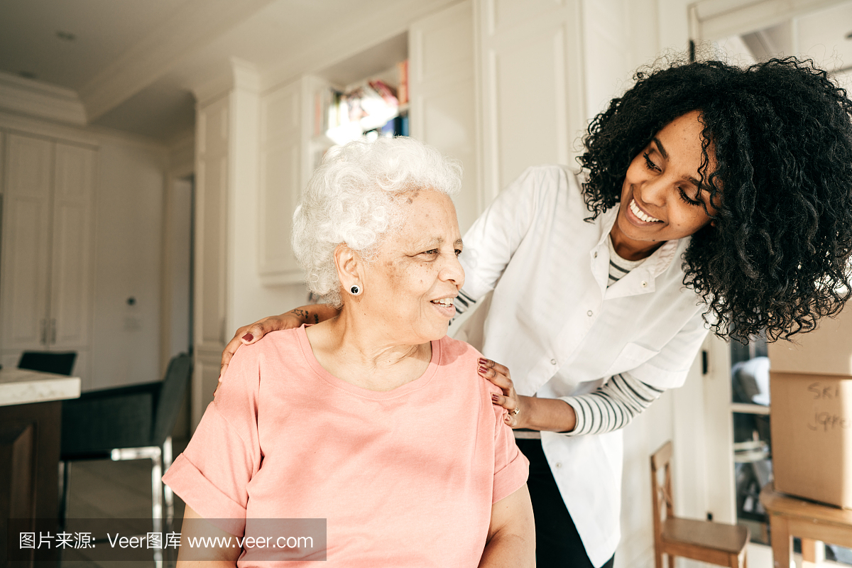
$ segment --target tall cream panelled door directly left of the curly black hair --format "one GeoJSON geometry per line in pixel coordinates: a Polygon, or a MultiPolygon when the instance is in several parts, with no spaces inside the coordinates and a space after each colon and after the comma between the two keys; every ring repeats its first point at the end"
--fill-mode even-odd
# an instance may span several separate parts
{"type": "Polygon", "coordinates": [[[574,164],[585,126],[580,0],[476,0],[486,200],[528,166],[574,164]]]}

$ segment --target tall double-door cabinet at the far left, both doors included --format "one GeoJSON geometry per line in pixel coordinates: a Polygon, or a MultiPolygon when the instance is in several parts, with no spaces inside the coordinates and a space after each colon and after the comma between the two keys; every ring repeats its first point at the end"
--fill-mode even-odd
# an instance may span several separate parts
{"type": "Polygon", "coordinates": [[[23,351],[76,351],[89,379],[96,150],[7,134],[0,264],[2,363],[23,351]]]}

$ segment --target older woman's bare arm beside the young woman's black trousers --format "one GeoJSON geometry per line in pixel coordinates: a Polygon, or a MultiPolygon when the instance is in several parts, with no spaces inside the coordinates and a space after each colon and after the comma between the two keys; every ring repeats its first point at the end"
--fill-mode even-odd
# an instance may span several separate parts
{"type": "Polygon", "coordinates": [[[535,521],[527,484],[491,507],[480,568],[535,566],[535,521]]]}

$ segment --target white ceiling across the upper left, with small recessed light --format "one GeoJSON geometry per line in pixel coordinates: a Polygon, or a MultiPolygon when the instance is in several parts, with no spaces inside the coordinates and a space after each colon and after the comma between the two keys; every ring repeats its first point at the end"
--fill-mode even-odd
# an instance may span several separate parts
{"type": "Polygon", "coordinates": [[[347,59],[342,43],[400,43],[457,1],[0,0],[0,71],[76,91],[89,123],[168,142],[193,128],[190,92],[232,58],[289,80],[347,59]]]}

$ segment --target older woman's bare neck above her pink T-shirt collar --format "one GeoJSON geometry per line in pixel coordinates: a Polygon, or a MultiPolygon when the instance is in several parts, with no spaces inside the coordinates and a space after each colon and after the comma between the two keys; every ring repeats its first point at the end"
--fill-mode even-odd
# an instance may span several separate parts
{"type": "Polygon", "coordinates": [[[390,391],[429,368],[432,345],[405,344],[393,332],[358,321],[343,310],[337,318],[308,328],[314,357],[333,376],[371,391],[390,391]]]}

